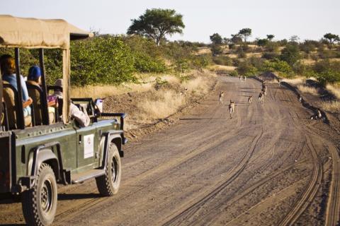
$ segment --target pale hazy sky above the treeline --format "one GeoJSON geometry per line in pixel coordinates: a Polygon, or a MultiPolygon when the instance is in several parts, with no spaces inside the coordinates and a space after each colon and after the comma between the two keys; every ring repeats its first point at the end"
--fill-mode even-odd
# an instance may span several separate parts
{"type": "Polygon", "coordinates": [[[183,15],[183,35],[170,40],[210,42],[218,32],[230,37],[251,28],[256,37],[275,40],[297,35],[319,40],[325,33],[340,35],[340,0],[0,0],[0,14],[33,18],[62,18],[84,30],[125,34],[131,19],[147,8],[171,8],[183,15]]]}

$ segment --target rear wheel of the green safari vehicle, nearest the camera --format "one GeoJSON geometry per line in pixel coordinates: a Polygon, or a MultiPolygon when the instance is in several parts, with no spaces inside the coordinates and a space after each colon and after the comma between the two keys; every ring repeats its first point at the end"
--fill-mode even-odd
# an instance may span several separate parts
{"type": "Polygon", "coordinates": [[[57,210],[57,182],[50,165],[40,165],[33,189],[23,192],[21,202],[28,225],[52,224],[57,210]]]}

